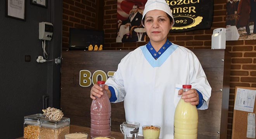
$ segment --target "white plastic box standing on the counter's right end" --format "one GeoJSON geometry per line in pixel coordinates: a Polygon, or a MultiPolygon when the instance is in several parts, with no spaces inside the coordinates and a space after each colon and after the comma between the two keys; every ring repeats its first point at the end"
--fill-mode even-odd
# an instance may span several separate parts
{"type": "Polygon", "coordinates": [[[211,36],[211,49],[226,49],[226,29],[218,28],[213,30],[211,36]]]}

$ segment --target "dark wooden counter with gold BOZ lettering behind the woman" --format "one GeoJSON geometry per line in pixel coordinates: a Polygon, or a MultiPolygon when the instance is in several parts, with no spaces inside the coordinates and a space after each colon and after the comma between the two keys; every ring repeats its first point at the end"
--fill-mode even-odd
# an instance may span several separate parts
{"type": "MultiPolygon", "coordinates": [[[[98,77],[106,80],[112,76],[113,71],[118,68],[118,63],[129,52],[128,50],[62,52],[61,110],[65,117],[70,118],[71,124],[90,127],[92,82],[97,82],[98,77]]],[[[212,88],[209,108],[198,110],[198,139],[226,139],[230,54],[224,49],[193,49],[192,52],[199,59],[212,88]]],[[[123,102],[111,103],[111,131],[120,132],[120,124],[126,121],[123,104],[123,102]]]]}

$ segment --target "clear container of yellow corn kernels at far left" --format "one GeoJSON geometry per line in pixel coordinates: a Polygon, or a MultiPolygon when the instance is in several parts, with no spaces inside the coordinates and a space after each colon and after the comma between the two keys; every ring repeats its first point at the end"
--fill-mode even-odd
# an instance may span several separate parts
{"type": "Polygon", "coordinates": [[[43,114],[33,114],[24,117],[24,139],[39,139],[40,120],[45,118],[43,114]]]}

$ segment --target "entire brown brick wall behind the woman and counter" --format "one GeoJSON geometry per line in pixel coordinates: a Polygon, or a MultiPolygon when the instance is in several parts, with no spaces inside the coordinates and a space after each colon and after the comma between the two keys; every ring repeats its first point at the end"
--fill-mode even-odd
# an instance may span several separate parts
{"type": "MultiPolygon", "coordinates": [[[[104,0],[105,49],[135,49],[146,42],[116,43],[117,0],[104,0]]],[[[212,28],[185,33],[170,33],[168,39],[189,49],[211,49],[213,29],[225,27],[226,0],[214,0],[212,28]]],[[[95,0],[64,0],[63,47],[68,47],[69,27],[94,28],[95,0]],[[80,2],[81,1],[81,2],[80,2]],[[94,8],[93,8],[94,7],[94,8]]],[[[147,38],[149,41],[149,38],[147,38]]],[[[226,49],[232,55],[230,73],[230,100],[227,138],[231,139],[235,86],[256,87],[256,40],[227,41],[226,49]]]]}

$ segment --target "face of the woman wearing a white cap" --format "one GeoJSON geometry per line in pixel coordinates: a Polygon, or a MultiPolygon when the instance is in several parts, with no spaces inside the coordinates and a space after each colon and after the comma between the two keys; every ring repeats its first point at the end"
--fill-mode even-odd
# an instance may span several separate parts
{"type": "Polygon", "coordinates": [[[168,15],[162,10],[151,10],[147,12],[144,26],[151,43],[165,43],[172,27],[168,15]]]}

